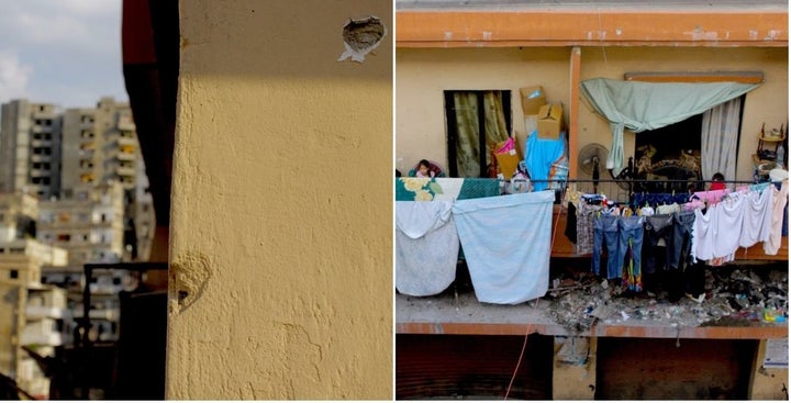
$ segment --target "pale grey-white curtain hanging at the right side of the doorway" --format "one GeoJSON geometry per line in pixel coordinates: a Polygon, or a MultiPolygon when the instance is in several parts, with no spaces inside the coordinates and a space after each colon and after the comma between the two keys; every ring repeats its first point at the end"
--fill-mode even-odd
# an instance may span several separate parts
{"type": "Polygon", "coordinates": [[[703,179],[720,172],[736,179],[736,142],[738,141],[742,98],[723,102],[703,113],[701,127],[701,173],[703,179]]]}

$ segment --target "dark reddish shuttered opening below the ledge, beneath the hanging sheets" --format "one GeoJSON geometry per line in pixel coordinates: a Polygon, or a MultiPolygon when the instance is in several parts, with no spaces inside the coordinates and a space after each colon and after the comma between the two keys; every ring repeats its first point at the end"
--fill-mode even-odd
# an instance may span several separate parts
{"type": "Polygon", "coordinates": [[[525,336],[396,335],[396,399],[500,400],[508,392],[552,400],[554,338],[530,335],[524,343],[525,336]]]}

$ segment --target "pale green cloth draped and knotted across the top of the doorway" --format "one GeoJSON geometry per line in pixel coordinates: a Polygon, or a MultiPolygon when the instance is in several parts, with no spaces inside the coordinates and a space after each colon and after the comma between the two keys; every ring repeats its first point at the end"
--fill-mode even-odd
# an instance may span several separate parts
{"type": "Polygon", "coordinates": [[[640,82],[593,78],[580,82],[591,107],[610,121],[613,141],[606,167],[623,169],[623,131],[650,131],[740,97],[759,85],[739,82],[640,82]]]}

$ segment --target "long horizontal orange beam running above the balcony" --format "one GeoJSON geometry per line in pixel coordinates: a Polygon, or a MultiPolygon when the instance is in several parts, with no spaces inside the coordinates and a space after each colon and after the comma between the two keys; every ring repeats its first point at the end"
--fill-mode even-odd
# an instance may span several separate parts
{"type": "Polygon", "coordinates": [[[788,47],[786,10],[399,10],[397,47],[788,47]]]}

